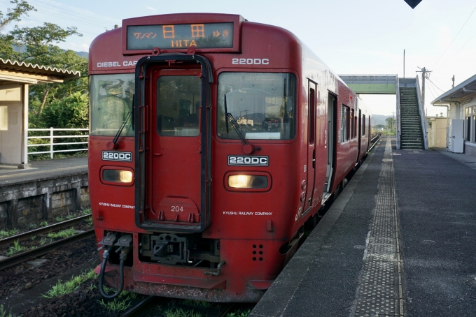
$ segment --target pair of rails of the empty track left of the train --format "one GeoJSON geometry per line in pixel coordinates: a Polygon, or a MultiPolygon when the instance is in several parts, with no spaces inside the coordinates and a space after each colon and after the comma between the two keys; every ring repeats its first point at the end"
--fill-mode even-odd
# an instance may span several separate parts
{"type": "MultiPolygon", "coordinates": [[[[90,216],[91,215],[79,216],[74,219],[62,221],[60,223],[55,223],[54,225],[38,228],[36,230],[31,230],[26,233],[21,233],[20,235],[7,237],[5,239],[0,240],[0,246],[13,244],[13,242],[15,241],[24,241],[36,235],[50,233],[52,231],[60,230],[62,228],[68,228],[68,227],[76,225],[77,223],[80,223],[81,221],[87,219],[87,217],[90,217],[90,216]]],[[[36,258],[38,256],[42,256],[43,254],[48,253],[54,249],[58,249],[59,247],[66,246],[68,244],[72,244],[74,242],[78,242],[82,239],[86,239],[87,237],[92,237],[92,236],[94,236],[94,229],[86,230],[76,235],[73,235],[71,237],[65,237],[63,239],[50,242],[48,244],[43,244],[42,246],[37,246],[34,249],[17,253],[14,256],[9,256],[8,258],[3,258],[0,260],[0,270],[4,270],[13,265],[17,265],[19,263],[25,262],[29,258],[36,258]]]]}

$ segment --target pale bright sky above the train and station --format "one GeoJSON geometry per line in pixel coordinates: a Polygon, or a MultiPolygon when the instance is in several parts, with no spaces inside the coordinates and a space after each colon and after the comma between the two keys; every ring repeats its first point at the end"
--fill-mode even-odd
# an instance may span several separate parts
{"type": "MultiPolygon", "coordinates": [[[[123,19],[167,13],[207,12],[242,15],[293,32],[337,74],[397,74],[416,77],[419,67],[432,71],[426,80],[428,115],[444,112],[430,105],[437,96],[476,73],[476,1],[423,0],[410,8],[404,0],[240,0],[240,1],[98,1],[27,0],[37,11],[3,32],[43,22],[77,27],[59,47],[88,50],[92,40],[123,19]]],[[[0,11],[13,5],[0,0],[0,11]]],[[[420,82],[421,84],[421,82],[420,82]]],[[[361,95],[372,113],[392,115],[395,96],[361,95]]],[[[445,115],[445,114],[444,114],[445,115]]]]}

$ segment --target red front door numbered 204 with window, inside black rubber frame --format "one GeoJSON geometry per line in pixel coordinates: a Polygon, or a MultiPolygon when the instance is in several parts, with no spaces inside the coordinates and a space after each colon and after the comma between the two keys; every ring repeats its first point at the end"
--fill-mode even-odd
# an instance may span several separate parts
{"type": "Polygon", "coordinates": [[[202,202],[202,69],[151,71],[146,220],[197,226],[202,202]]]}

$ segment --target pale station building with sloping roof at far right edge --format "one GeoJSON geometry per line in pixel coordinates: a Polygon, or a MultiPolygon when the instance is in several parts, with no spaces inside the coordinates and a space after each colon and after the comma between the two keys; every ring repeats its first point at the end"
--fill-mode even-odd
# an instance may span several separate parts
{"type": "Polygon", "coordinates": [[[447,149],[476,156],[476,75],[444,92],[431,102],[447,108],[447,149]],[[460,141],[461,140],[461,141],[460,141]]]}

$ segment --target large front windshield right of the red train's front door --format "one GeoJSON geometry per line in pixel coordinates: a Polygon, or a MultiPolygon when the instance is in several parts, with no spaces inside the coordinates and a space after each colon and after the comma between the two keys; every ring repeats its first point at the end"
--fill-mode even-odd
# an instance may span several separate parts
{"type": "Polygon", "coordinates": [[[295,75],[221,73],[217,134],[223,139],[290,140],[295,135],[295,75]]]}

